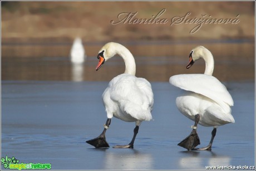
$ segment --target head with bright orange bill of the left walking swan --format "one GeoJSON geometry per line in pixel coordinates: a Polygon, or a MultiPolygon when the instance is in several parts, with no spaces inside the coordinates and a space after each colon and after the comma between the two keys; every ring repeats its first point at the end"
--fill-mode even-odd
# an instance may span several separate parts
{"type": "Polygon", "coordinates": [[[117,43],[110,42],[105,44],[99,51],[97,56],[100,59],[99,63],[97,64],[96,71],[100,69],[100,67],[107,61],[108,59],[112,58],[116,54],[115,46],[117,43]]]}

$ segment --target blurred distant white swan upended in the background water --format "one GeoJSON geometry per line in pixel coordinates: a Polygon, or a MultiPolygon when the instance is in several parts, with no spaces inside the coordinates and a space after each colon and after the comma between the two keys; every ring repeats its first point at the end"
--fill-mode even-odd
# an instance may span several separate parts
{"type": "Polygon", "coordinates": [[[70,52],[71,62],[75,64],[80,64],[85,61],[85,48],[83,48],[82,39],[76,38],[73,42],[71,52],[70,52]]]}

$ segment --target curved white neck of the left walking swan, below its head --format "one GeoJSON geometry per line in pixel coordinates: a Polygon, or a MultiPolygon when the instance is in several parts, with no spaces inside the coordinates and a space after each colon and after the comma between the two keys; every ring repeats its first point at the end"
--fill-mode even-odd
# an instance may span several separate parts
{"type": "Polygon", "coordinates": [[[125,73],[135,76],[136,64],[134,56],[132,56],[131,52],[126,47],[118,44],[116,47],[116,53],[119,54],[119,56],[121,56],[125,61],[125,73]]]}

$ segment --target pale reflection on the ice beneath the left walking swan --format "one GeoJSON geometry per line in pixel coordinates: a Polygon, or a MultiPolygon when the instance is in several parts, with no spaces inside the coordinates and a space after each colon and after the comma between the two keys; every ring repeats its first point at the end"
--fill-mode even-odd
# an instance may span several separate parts
{"type": "MultiPolygon", "coordinates": [[[[124,149],[122,149],[124,150],[124,149]]],[[[126,150],[126,149],[125,149],[126,150]]],[[[105,168],[106,170],[152,170],[154,160],[151,154],[140,153],[134,149],[131,153],[121,152],[118,153],[106,152],[105,168]]]]}

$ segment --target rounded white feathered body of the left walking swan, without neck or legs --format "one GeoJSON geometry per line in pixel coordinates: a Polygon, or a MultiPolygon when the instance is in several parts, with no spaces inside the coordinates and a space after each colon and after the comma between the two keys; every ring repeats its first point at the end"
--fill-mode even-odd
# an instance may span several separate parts
{"type": "Polygon", "coordinates": [[[152,119],[153,93],[144,78],[120,74],[110,81],[102,97],[108,118],[114,115],[126,122],[152,119]]]}

